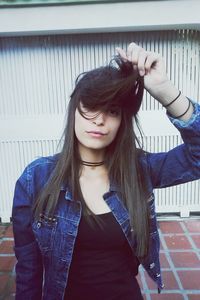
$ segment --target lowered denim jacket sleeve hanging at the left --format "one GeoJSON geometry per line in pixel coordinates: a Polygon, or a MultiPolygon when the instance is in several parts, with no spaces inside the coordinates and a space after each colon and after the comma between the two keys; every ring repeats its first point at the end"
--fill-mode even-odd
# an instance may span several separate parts
{"type": "Polygon", "coordinates": [[[42,298],[43,266],[31,226],[31,176],[26,168],[15,185],[12,222],[16,264],[16,300],[42,298]]]}

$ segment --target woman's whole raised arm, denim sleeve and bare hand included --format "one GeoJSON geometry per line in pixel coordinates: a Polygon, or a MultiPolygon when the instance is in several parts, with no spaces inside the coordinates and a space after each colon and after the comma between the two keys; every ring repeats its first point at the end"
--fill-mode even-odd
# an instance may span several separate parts
{"type": "Polygon", "coordinates": [[[168,152],[148,153],[147,166],[153,188],[163,188],[200,178],[200,105],[188,99],[167,77],[162,57],[131,43],[118,54],[144,76],[145,89],[166,109],[184,144],[168,152]]]}

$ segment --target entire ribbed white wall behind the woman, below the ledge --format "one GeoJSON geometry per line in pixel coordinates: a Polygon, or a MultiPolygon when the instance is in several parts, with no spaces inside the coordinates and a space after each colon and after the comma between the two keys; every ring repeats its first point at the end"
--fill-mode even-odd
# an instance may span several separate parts
{"type": "MultiPolygon", "coordinates": [[[[192,30],[0,38],[0,217],[9,220],[13,185],[25,165],[51,155],[64,127],[76,76],[104,65],[135,41],[159,52],[175,85],[199,99],[200,33],[192,30]]],[[[140,113],[149,151],[181,142],[162,106],[144,95],[140,113]],[[159,126],[157,124],[159,123],[159,126]]],[[[199,181],[157,193],[158,212],[200,211],[199,181]]]]}

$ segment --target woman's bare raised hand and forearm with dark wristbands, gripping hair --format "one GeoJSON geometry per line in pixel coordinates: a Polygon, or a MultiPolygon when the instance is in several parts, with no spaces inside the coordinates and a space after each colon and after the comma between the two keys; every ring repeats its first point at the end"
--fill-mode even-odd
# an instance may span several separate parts
{"type": "MultiPolygon", "coordinates": [[[[188,99],[182,94],[179,95],[179,90],[169,80],[160,54],[146,51],[135,43],[130,43],[127,51],[120,47],[116,50],[124,61],[130,61],[133,64],[133,69],[138,72],[138,76],[144,76],[145,89],[162,105],[165,106],[178,98],[178,101],[167,108],[170,114],[179,116],[186,111],[188,99]]],[[[192,112],[191,106],[181,119],[188,120],[192,112]]]]}

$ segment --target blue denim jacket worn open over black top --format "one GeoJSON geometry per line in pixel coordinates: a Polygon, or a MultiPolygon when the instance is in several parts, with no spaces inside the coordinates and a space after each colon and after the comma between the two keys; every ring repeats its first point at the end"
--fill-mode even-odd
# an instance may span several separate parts
{"type": "MultiPolygon", "coordinates": [[[[177,185],[200,178],[200,105],[194,103],[194,113],[188,122],[169,117],[180,131],[184,144],[164,153],[147,153],[141,160],[147,176],[151,197],[150,250],[140,263],[163,288],[159,262],[159,235],[155,213],[154,188],[177,185]]],[[[75,239],[81,217],[81,203],[73,201],[67,187],[61,187],[55,216],[43,215],[32,221],[31,206],[37,192],[47,182],[57,155],[42,157],[30,163],[16,182],[13,201],[13,231],[15,238],[16,299],[64,299],[65,288],[75,239]]],[[[116,221],[134,250],[129,214],[117,188],[110,186],[104,194],[116,221]]]]}

